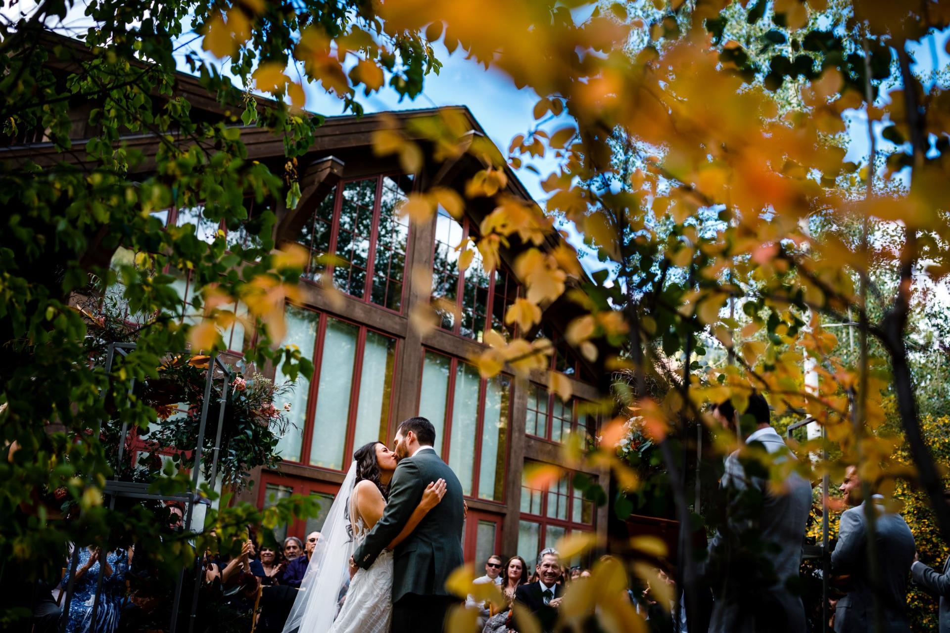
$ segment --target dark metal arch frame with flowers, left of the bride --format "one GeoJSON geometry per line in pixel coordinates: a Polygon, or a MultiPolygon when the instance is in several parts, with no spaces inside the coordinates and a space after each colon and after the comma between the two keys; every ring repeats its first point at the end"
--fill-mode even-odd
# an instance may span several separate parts
{"type": "MultiPolygon", "coordinates": [[[[135,343],[110,343],[106,351],[105,356],[105,373],[110,374],[112,371],[112,365],[115,361],[116,352],[122,355],[123,358],[128,356],[129,352],[137,348],[135,343]]],[[[182,356],[194,356],[195,354],[190,351],[181,352],[182,356]]],[[[187,505],[187,512],[184,517],[185,529],[189,529],[191,526],[192,519],[194,518],[195,504],[196,503],[207,503],[207,501],[198,493],[198,482],[201,474],[201,457],[204,449],[204,433],[207,429],[208,421],[208,406],[211,401],[211,387],[215,381],[215,369],[218,368],[221,371],[221,400],[226,401],[228,398],[228,387],[231,384],[232,371],[221,362],[218,357],[218,353],[214,353],[209,358],[208,369],[206,372],[206,378],[204,382],[204,401],[201,404],[201,419],[198,427],[198,442],[195,447],[195,464],[192,467],[192,490],[188,493],[180,494],[157,494],[148,492],[148,484],[142,482],[134,481],[120,481],[118,471],[112,477],[112,479],[105,482],[104,493],[109,497],[109,510],[115,510],[116,498],[123,496],[133,499],[153,499],[160,501],[180,501],[187,505]]],[[[135,388],[135,379],[132,379],[131,384],[129,385],[129,391],[135,388]]],[[[100,395],[100,398],[104,399],[106,392],[100,395]]],[[[218,407],[218,429],[215,435],[215,444],[212,448],[212,457],[211,457],[211,477],[209,483],[212,488],[215,487],[215,482],[218,478],[218,456],[220,454],[221,447],[221,432],[223,430],[224,422],[224,406],[218,407]]],[[[98,433],[102,430],[102,420],[97,420],[95,433],[98,433]]],[[[122,432],[120,434],[119,440],[119,457],[118,461],[121,464],[125,452],[125,442],[128,438],[128,421],[123,421],[122,432]]],[[[108,555],[108,552],[106,552],[108,555]]],[[[72,603],[73,592],[75,590],[76,584],[76,568],[79,565],[79,547],[74,546],[72,557],[69,563],[69,580],[66,584],[66,602],[63,605],[63,612],[60,615],[60,624],[59,631],[60,633],[66,632],[66,624],[69,620],[69,606],[72,603]]],[[[192,597],[191,612],[189,614],[188,620],[188,631],[189,633],[194,630],[195,618],[198,611],[198,600],[199,600],[199,589],[200,589],[200,580],[201,580],[201,556],[196,552],[195,554],[195,591],[192,597]]],[[[184,569],[182,568],[179,574],[178,582],[175,585],[175,597],[172,603],[171,609],[171,622],[169,626],[170,633],[175,633],[175,630],[178,625],[179,620],[179,609],[181,602],[181,586],[184,583],[184,569]]],[[[96,622],[96,615],[99,610],[100,597],[102,595],[103,589],[103,574],[100,573],[96,582],[96,593],[93,598],[92,604],[92,615],[91,621],[96,622]]],[[[95,625],[95,624],[93,624],[95,625]]]]}

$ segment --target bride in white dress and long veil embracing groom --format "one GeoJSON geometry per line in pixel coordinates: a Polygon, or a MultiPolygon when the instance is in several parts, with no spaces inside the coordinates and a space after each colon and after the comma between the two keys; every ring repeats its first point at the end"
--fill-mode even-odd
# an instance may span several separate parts
{"type": "Polygon", "coordinates": [[[370,442],[353,453],[350,471],[324,521],[283,633],[389,633],[392,549],[446,493],[443,479],[428,484],[403,531],[371,568],[357,569],[351,579],[350,556],[386,509],[396,463],[395,453],[382,442],[370,442]]]}

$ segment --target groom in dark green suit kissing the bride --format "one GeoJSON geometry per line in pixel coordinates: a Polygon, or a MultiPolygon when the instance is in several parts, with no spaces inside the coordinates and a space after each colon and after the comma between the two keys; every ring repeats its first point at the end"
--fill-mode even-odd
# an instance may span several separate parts
{"type": "Polygon", "coordinates": [[[418,527],[396,547],[392,578],[392,633],[438,633],[446,612],[458,602],[446,590],[448,575],[463,565],[462,484],[438,455],[435,427],[425,418],[399,425],[394,452],[399,459],[390,481],[386,511],[352,555],[357,567],[368,569],[380,552],[402,531],[419,505],[429,482],[440,477],[447,490],[418,527]]]}

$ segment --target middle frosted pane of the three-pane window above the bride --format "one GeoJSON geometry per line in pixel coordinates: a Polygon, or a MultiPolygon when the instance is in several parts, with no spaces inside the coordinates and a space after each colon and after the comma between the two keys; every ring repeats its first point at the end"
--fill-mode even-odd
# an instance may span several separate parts
{"type": "MultiPolygon", "coordinates": [[[[328,319],[323,339],[310,463],[334,471],[343,470],[343,448],[347,440],[347,421],[350,419],[350,391],[358,332],[357,326],[328,319]]],[[[346,461],[350,463],[350,459],[346,461]]]]}

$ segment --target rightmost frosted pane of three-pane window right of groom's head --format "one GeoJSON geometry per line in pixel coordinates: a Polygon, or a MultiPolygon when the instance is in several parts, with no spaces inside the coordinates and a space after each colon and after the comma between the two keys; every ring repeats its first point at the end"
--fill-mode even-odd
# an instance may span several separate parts
{"type": "Polygon", "coordinates": [[[482,425],[482,463],[478,482],[481,499],[504,501],[510,395],[511,380],[507,376],[496,376],[485,386],[485,423],[482,425]]]}

